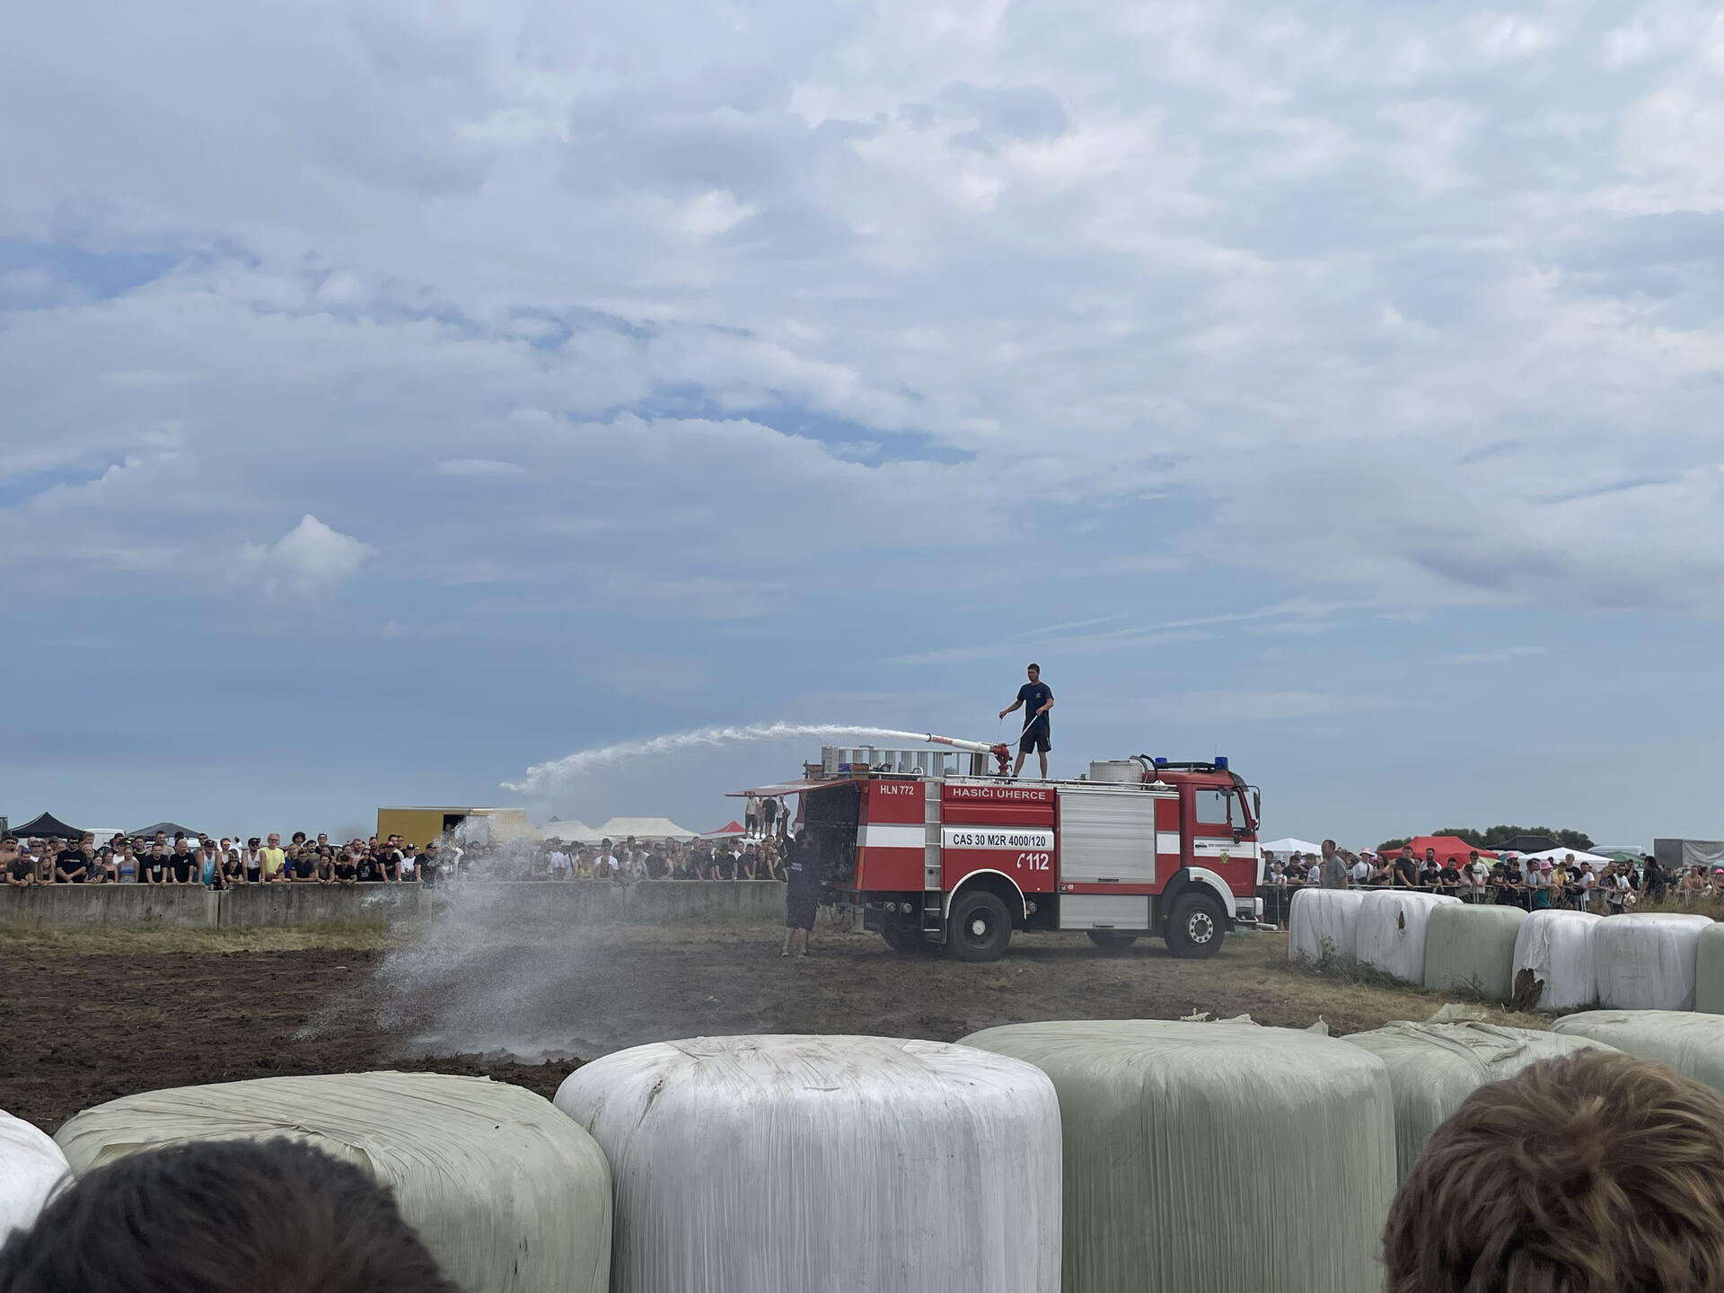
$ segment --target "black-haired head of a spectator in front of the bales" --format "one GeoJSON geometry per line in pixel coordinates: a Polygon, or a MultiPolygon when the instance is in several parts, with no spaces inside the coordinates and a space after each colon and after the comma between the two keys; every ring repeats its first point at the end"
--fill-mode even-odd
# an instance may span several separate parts
{"type": "Polygon", "coordinates": [[[459,1293],[352,1164],[290,1140],[131,1153],[0,1248],[0,1293],[459,1293]]]}

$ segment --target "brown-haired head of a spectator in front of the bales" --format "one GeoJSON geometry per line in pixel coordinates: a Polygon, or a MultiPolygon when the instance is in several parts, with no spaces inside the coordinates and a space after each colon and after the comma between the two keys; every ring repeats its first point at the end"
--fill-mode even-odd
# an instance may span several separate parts
{"type": "Polygon", "coordinates": [[[1607,1050],[1474,1091],[1395,1196],[1388,1293],[1724,1290],[1724,1100],[1607,1050]]]}

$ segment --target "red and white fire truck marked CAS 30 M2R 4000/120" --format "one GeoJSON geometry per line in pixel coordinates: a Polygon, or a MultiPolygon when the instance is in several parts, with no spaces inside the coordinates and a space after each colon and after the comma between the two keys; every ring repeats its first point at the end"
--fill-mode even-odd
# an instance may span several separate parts
{"type": "Polygon", "coordinates": [[[955,750],[826,746],[803,779],[740,791],[800,796],[824,898],[860,907],[891,948],[996,960],[1014,929],[1083,929],[1103,948],[1155,934],[1212,957],[1259,921],[1260,796],[1226,759],[1012,781],[1003,745],[928,740],[955,750]]]}

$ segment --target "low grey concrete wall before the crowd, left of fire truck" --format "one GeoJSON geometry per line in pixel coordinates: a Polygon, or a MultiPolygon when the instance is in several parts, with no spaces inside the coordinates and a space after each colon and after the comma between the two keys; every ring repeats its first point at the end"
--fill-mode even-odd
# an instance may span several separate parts
{"type": "Polygon", "coordinates": [[[181,926],[302,929],[388,924],[467,905],[488,921],[522,924],[759,924],[784,919],[784,886],[769,879],[469,881],[464,884],[43,884],[0,891],[0,926],[181,926]]]}

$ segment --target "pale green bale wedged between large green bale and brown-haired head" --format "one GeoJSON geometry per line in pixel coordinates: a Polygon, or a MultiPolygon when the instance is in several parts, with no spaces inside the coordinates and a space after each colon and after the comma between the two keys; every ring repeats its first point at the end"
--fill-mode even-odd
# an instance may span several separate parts
{"type": "Polygon", "coordinates": [[[1486,1083],[1502,1081],[1529,1064],[1576,1050],[1603,1048],[1581,1036],[1496,1024],[1384,1024],[1341,1038],[1383,1060],[1395,1091],[1395,1159],[1405,1181],[1450,1114],[1486,1083]]]}

